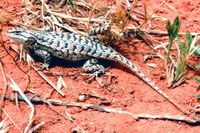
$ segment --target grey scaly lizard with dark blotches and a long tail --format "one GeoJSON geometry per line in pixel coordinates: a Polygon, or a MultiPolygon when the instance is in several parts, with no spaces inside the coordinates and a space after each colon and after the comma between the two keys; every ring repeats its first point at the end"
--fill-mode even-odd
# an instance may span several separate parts
{"type": "MultiPolygon", "coordinates": [[[[101,34],[105,29],[93,30],[93,35],[101,34]]],[[[98,59],[116,61],[142,79],[152,89],[163,96],[184,114],[188,112],[171,99],[155,83],[150,80],[129,59],[116,50],[103,45],[95,36],[85,37],[72,32],[34,31],[21,27],[14,27],[6,32],[7,36],[14,41],[23,44],[34,51],[34,54],[43,58],[43,67],[48,68],[51,57],[55,56],[64,60],[79,61],[87,60],[83,70],[87,73],[95,73],[97,76],[104,74],[104,67],[98,64],[98,59]]]]}

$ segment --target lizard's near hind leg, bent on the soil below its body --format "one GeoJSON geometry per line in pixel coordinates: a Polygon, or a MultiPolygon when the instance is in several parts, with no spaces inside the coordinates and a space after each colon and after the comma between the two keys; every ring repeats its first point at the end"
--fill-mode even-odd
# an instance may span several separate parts
{"type": "Polygon", "coordinates": [[[97,59],[89,59],[85,62],[83,65],[83,71],[86,73],[91,73],[95,77],[99,77],[103,74],[105,74],[105,68],[101,65],[98,64],[99,61],[97,59]]]}

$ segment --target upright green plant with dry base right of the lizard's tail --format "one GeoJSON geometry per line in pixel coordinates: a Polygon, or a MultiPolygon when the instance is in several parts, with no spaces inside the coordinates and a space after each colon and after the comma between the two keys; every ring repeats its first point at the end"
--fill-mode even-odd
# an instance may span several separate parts
{"type": "Polygon", "coordinates": [[[195,41],[192,41],[190,33],[186,34],[186,40],[184,42],[180,39],[180,36],[178,35],[180,24],[179,17],[176,17],[172,25],[169,21],[166,24],[169,35],[169,45],[165,64],[170,86],[173,86],[174,83],[178,85],[185,80],[188,57],[195,51],[195,41]],[[174,61],[170,56],[172,44],[176,39],[178,40],[178,48],[177,57],[174,61]]]}

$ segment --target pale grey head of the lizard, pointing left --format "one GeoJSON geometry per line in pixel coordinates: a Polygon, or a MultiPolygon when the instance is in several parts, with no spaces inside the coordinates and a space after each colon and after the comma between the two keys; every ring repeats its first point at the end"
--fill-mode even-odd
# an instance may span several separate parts
{"type": "Polygon", "coordinates": [[[6,34],[12,40],[26,45],[32,45],[35,38],[32,31],[20,27],[9,29],[6,34]]]}

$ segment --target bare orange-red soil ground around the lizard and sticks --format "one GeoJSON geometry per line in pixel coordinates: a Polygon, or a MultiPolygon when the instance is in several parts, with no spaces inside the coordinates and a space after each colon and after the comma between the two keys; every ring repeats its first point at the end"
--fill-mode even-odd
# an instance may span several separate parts
{"type": "MultiPolygon", "coordinates": [[[[2,0],[3,1],[3,0],[2,0]]],[[[200,1],[190,1],[190,0],[168,0],[162,7],[161,3],[163,0],[146,0],[147,10],[150,12],[155,12],[156,15],[160,17],[165,17],[166,19],[173,20],[177,15],[180,16],[182,20],[182,32],[199,32],[200,31],[200,17],[198,17],[200,12],[200,1]]],[[[17,14],[21,10],[20,0],[13,0],[0,3],[1,14],[8,12],[12,18],[20,18],[17,14]]],[[[3,15],[5,16],[5,15],[3,15]]],[[[1,15],[2,17],[2,15],[1,15]]],[[[0,18],[2,21],[2,19],[0,18]]],[[[5,23],[5,22],[4,22],[5,23]]],[[[152,27],[157,30],[165,30],[165,22],[160,20],[152,21],[152,27]]],[[[4,25],[3,30],[5,31],[8,27],[4,25]]],[[[28,89],[35,92],[42,98],[49,96],[52,92],[52,87],[50,87],[33,69],[28,67],[24,61],[17,59],[17,54],[11,50],[8,52],[16,60],[17,65],[27,74],[20,70],[14,60],[5,52],[2,47],[5,45],[8,48],[9,41],[6,35],[3,34],[3,44],[0,45],[0,59],[3,63],[3,69],[6,75],[9,75],[14,79],[14,81],[19,85],[22,90],[25,90],[28,84],[27,74],[30,76],[30,84],[28,89]]],[[[133,46],[123,45],[123,48],[133,46]]],[[[187,82],[175,89],[167,89],[167,81],[165,78],[164,63],[162,59],[154,58],[147,63],[157,64],[156,68],[151,68],[145,63],[143,63],[143,57],[151,51],[151,49],[144,43],[134,45],[134,54],[127,54],[128,58],[134,62],[141,70],[151,78],[156,85],[162,88],[172,99],[174,99],[178,104],[183,106],[185,109],[190,109],[195,105],[198,105],[196,100],[196,95],[199,94],[197,91],[198,84],[193,80],[194,72],[188,71],[187,82]],[[163,79],[164,78],[164,79],[163,79]]],[[[131,51],[131,50],[130,50],[131,51]]],[[[152,52],[152,51],[151,51],[152,52]]],[[[152,52],[153,53],[153,52],[152,52]]],[[[194,57],[195,58],[195,57],[194,57]]],[[[192,60],[191,63],[197,63],[199,60],[192,60]]],[[[50,69],[52,72],[66,72],[70,75],[77,74],[81,72],[78,68],[63,68],[55,66],[50,69]]],[[[98,94],[104,96],[108,99],[110,104],[109,108],[120,108],[125,111],[132,112],[134,114],[152,114],[152,115],[165,115],[165,114],[180,114],[180,112],[174,108],[170,103],[168,103],[159,94],[153,91],[148,85],[146,85],[137,76],[129,73],[125,68],[119,66],[117,63],[112,63],[111,68],[108,70],[110,73],[116,76],[114,82],[108,88],[102,88],[99,84],[94,81],[92,83],[87,83],[83,76],[78,76],[77,79],[73,79],[70,76],[63,77],[67,84],[67,89],[63,88],[62,91],[66,94],[65,97],[60,96],[57,92],[53,92],[49,98],[59,99],[61,101],[73,101],[78,102],[78,97],[80,93],[86,94],[98,94]]],[[[57,82],[58,77],[48,76],[54,83],[57,82]]],[[[0,74],[0,95],[3,94],[4,80],[2,72],[0,74]]],[[[6,92],[7,94],[13,94],[10,87],[6,92]]],[[[33,94],[31,94],[33,95],[33,94]]],[[[88,98],[82,103],[93,103],[93,104],[103,104],[104,102],[95,99],[88,98]]],[[[21,130],[24,130],[29,121],[30,108],[26,103],[20,103],[17,107],[16,104],[10,101],[4,102],[4,110],[8,112],[13,121],[19,126],[21,130]]],[[[102,105],[105,106],[105,105],[102,105]]],[[[63,116],[59,116],[58,113],[53,111],[49,106],[46,105],[35,105],[36,114],[34,118],[34,123],[38,124],[41,121],[49,121],[53,118],[59,118],[53,123],[47,123],[38,132],[71,132],[73,128],[80,126],[85,132],[137,132],[137,133],[155,133],[155,132],[180,132],[180,133],[197,133],[200,130],[199,126],[191,126],[184,123],[164,121],[164,120],[151,120],[143,119],[135,121],[129,115],[114,114],[114,113],[104,113],[94,110],[82,110],[76,107],[65,108],[60,106],[51,107],[63,116],[66,116],[66,111],[71,114],[74,121],[71,122],[65,119],[63,116]]],[[[2,118],[6,118],[5,114],[2,113],[2,118]]],[[[8,123],[11,123],[7,120],[8,123]]],[[[17,132],[15,126],[11,126],[9,132],[17,132]]]]}

